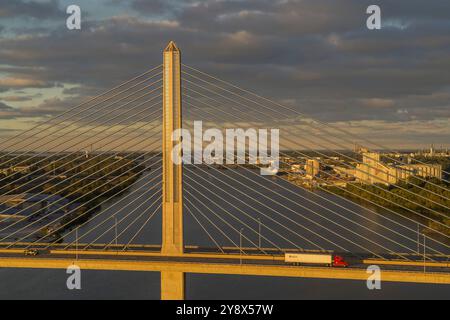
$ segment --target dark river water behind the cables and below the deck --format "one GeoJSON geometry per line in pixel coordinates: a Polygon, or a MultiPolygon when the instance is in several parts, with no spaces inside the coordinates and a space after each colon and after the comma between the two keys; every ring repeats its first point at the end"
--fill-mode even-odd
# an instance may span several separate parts
{"type": "MultiPolygon", "coordinates": [[[[130,191],[105,204],[100,214],[79,228],[80,242],[114,243],[117,234],[119,243],[160,244],[160,170],[156,164],[150,167],[130,191]]],[[[244,247],[261,241],[263,248],[327,249],[374,256],[389,251],[414,253],[418,248],[417,224],[392,213],[371,212],[336,196],[302,190],[246,169],[187,167],[184,174],[189,208],[184,220],[186,245],[214,246],[212,236],[220,245],[234,246],[239,244],[242,230],[244,247]]],[[[74,233],[65,239],[74,240],[74,233]]],[[[427,254],[450,253],[431,239],[427,242],[427,254]]],[[[419,250],[423,253],[423,246],[419,250]]],[[[66,279],[65,270],[2,269],[0,298],[159,299],[159,273],[83,271],[80,291],[69,291],[66,279]]],[[[189,274],[186,297],[448,299],[450,286],[383,283],[382,290],[370,291],[362,281],[189,274]]]]}

